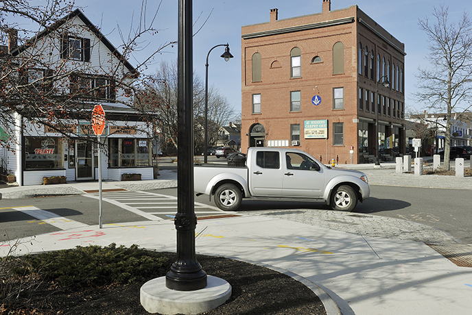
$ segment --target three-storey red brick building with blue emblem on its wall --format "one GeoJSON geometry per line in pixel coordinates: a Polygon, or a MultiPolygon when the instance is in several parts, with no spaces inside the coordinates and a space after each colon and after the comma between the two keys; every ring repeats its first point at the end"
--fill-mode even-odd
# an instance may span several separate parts
{"type": "Polygon", "coordinates": [[[241,27],[241,148],[297,147],[327,163],[405,152],[405,45],[357,5],[241,27]],[[352,153],[351,153],[352,150],[352,153]]]}

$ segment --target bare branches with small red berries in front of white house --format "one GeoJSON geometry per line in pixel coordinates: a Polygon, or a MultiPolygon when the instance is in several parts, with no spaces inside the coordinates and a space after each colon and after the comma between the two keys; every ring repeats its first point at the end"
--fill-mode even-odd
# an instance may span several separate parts
{"type": "MultiPolygon", "coordinates": [[[[0,5],[0,125],[7,129],[44,125],[64,138],[95,140],[76,127],[80,120],[90,120],[96,103],[121,104],[139,112],[134,97],[147,81],[141,69],[174,44],[163,43],[137,65],[128,62],[157,33],[153,26],[157,10],[146,19],[143,0],[139,18],[133,18],[135,25],[130,25],[126,36],[118,27],[122,42],[115,48],[79,9],[73,10],[73,1],[33,3],[8,0],[0,5]],[[73,23],[77,16],[85,23],[73,23]],[[30,22],[24,24],[30,25],[28,29],[20,27],[17,21],[22,19],[30,22]],[[91,34],[91,39],[84,34],[91,34]],[[82,39],[74,42],[74,38],[82,39]],[[99,64],[86,62],[92,49],[104,57],[99,64]]],[[[126,121],[126,113],[121,119],[126,121]]],[[[0,140],[5,147],[19,142],[12,129],[8,140],[0,140]]]]}

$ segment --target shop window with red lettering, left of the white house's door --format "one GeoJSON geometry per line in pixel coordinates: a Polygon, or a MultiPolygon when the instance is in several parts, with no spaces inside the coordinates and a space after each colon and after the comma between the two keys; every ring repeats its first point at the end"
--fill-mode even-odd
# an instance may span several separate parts
{"type": "Polygon", "coordinates": [[[25,137],[25,168],[64,168],[64,144],[61,138],[25,137]]]}

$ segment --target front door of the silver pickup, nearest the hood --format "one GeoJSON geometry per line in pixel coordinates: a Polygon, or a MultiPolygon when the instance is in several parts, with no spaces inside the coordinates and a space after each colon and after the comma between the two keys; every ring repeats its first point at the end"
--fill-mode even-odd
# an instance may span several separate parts
{"type": "Polygon", "coordinates": [[[299,152],[286,152],[284,160],[283,197],[322,197],[325,174],[316,171],[318,162],[299,152]]]}

